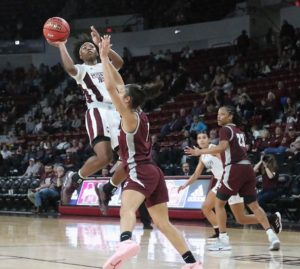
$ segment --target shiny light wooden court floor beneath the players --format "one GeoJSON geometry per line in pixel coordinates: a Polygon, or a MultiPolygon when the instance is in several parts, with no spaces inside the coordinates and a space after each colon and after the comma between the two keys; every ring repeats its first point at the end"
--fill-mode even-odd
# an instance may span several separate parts
{"type": "MultiPolygon", "coordinates": [[[[205,238],[211,234],[210,228],[196,223],[176,226],[205,269],[300,269],[299,232],[283,231],[281,250],[271,253],[264,231],[249,227],[229,229],[232,251],[209,252],[205,238]]],[[[122,268],[167,269],[183,265],[158,230],[144,231],[138,223],[134,238],[142,251],[122,268]]],[[[117,219],[0,216],[0,268],[102,268],[118,241],[117,219]]]]}

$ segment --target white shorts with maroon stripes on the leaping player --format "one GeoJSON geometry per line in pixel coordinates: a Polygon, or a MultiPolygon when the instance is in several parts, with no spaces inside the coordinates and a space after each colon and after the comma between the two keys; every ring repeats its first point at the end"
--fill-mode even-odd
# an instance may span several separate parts
{"type": "Polygon", "coordinates": [[[120,114],[111,104],[91,106],[85,114],[85,126],[90,139],[90,144],[98,136],[110,138],[111,148],[118,145],[120,134],[120,114]]]}

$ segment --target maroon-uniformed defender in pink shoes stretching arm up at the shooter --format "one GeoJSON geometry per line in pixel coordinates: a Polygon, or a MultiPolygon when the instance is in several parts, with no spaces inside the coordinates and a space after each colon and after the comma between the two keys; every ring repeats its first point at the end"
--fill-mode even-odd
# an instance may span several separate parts
{"type": "Polygon", "coordinates": [[[168,191],[164,175],[151,160],[149,121],[140,106],[154,98],[161,85],[141,87],[136,84],[117,83],[114,77],[121,76],[109,62],[110,37],[102,40],[100,57],[103,63],[104,80],[113,104],[121,115],[119,136],[120,156],[127,179],[122,192],[120,210],[121,243],[115,254],[104,264],[104,269],[117,269],[123,262],[139,252],[140,246],[131,240],[136,222],[136,210],[146,200],[146,206],[158,229],[180,253],[186,265],[184,269],[200,269],[181,233],[170,223],[167,209],[168,191]]]}

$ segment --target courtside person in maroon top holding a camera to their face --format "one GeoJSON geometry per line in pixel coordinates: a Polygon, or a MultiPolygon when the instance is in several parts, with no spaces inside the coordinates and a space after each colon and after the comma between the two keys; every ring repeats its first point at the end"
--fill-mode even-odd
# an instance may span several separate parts
{"type": "Polygon", "coordinates": [[[259,205],[266,210],[266,203],[278,198],[277,163],[273,155],[261,155],[260,161],[254,166],[254,171],[262,175],[262,190],[257,195],[259,205]]]}

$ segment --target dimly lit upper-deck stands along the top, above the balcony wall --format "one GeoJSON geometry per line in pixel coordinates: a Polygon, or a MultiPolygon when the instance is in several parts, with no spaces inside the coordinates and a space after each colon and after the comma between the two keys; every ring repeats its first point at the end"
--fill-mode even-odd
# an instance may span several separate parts
{"type": "MultiPolygon", "coordinates": [[[[0,36],[2,40],[25,40],[41,37],[45,21],[53,14],[70,21],[78,18],[109,17],[138,14],[142,17],[143,29],[176,26],[224,18],[235,9],[237,0],[197,1],[29,1],[26,8],[22,0],[1,1],[0,36]],[[117,8],[116,8],[117,7],[117,8]],[[206,12],[202,12],[205,10],[206,12]],[[14,14],[11,16],[11,14],[14,14]],[[30,20],[28,20],[30,14],[30,20]],[[174,16],[176,14],[176,16],[174,16]]],[[[110,25],[107,25],[109,27],[110,25]]],[[[135,27],[135,25],[133,25],[135,27]]],[[[118,31],[132,31],[130,22],[118,27],[118,31]]],[[[114,31],[114,28],[112,28],[114,31]]]]}

